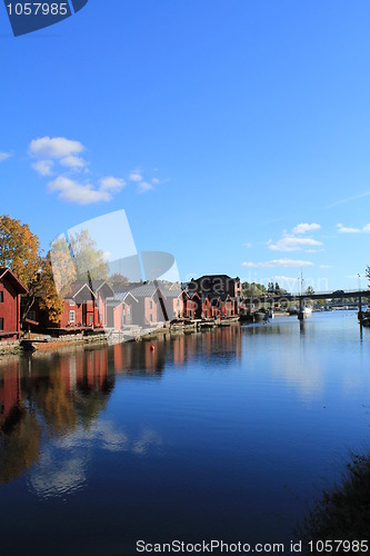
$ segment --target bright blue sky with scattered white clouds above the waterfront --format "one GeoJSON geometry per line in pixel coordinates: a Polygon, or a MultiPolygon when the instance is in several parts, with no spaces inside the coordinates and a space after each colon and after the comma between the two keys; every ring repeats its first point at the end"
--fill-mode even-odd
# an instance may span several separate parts
{"type": "Polygon", "coordinates": [[[0,212],[48,250],[124,209],[182,280],[357,287],[369,20],[367,1],[90,0],[13,38],[1,8],[0,212]]]}

